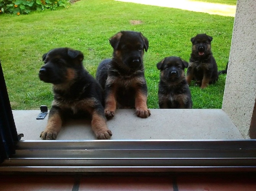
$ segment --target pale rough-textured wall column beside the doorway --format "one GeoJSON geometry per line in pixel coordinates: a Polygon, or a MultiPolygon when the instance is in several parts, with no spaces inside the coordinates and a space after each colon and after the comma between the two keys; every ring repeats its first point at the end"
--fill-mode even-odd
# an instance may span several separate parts
{"type": "Polygon", "coordinates": [[[238,0],[222,109],[244,138],[250,138],[255,99],[256,2],[238,0]]]}

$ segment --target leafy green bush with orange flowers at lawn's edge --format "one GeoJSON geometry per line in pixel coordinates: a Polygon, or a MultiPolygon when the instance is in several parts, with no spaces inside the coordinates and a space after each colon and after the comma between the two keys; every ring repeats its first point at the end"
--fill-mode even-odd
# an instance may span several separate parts
{"type": "Polygon", "coordinates": [[[55,10],[57,7],[70,5],[67,0],[0,0],[0,13],[27,14],[44,9],[55,10]]]}

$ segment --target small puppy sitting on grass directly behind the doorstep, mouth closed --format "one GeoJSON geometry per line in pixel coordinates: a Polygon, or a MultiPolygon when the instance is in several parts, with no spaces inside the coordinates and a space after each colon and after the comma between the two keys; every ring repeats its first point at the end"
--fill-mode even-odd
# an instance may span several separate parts
{"type": "Polygon", "coordinates": [[[187,67],[188,62],[175,56],[165,57],[157,63],[159,108],[192,108],[191,92],[184,74],[187,67]]]}

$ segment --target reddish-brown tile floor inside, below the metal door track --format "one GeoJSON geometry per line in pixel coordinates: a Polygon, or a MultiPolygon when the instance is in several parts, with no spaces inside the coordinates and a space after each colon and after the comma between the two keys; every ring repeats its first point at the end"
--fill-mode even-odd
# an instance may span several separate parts
{"type": "Polygon", "coordinates": [[[256,191],[255,175],[74,177],[0,175],[0,191],[256,191]]]}

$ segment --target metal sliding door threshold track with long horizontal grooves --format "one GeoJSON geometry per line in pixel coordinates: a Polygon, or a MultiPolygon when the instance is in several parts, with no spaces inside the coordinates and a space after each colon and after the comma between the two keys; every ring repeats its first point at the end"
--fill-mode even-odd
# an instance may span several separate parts
{"type": "Polygon", "coordinates": [[[256,172],[256,140],[25,140],[0,172],[256,172]]]}

